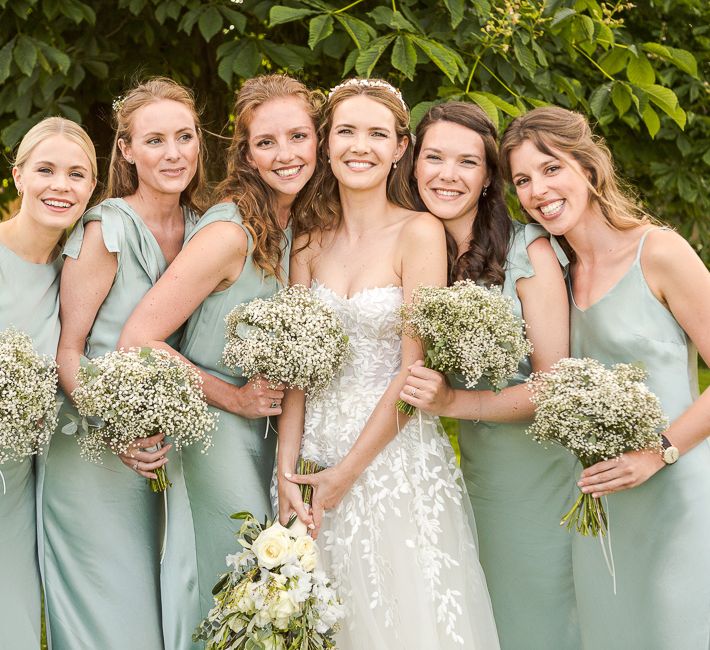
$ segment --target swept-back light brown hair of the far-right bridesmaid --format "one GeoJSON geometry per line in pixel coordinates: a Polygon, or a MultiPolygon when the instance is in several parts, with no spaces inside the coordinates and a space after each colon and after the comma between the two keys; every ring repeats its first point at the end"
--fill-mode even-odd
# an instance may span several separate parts
{"type": "Polygon", "coordinates": [[[549,156],[555,156],[555,151],[559,151],[579,163],[587,174],[584,180],[592,200],[599,205],[612,228],[629,230],[655,222],[622,183],[604,139],[592,133],[587,118],[580,113],[547,106],[516,117],[500,144],[502,168],[509,181],[512,180],[510,155],[526,141],[549,156]]]}

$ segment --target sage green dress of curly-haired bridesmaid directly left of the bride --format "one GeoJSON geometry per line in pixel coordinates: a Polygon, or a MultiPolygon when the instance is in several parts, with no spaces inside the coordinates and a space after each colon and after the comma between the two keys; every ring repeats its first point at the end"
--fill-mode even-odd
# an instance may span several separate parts
{"type": "MultiPolygon", "coordinates": [[[[205,298],[187,322],[180,350],[205,372],[236,386],[246,379],[222,365],[227,314],[254,298],[268,298],[281,288],[252,260],[254,242],[234,203],[220,203],[200,219],[188,240],[216,222],[233,223],[248,240],[247,258],[239,278],[227,289],[205,298]]],[[[291,232],[284,237],[283,278],[288,278],[291,232]]],[[[219,409],[213,446],[206,454],[199,446],[179,454],[184,488],[168,494],[168,548],[163,561],[164,602],[172,610],[165,624],[165,643],[171,650],[193,646],[192,633],[214,606],[212,587],[227,570],[225,557],[236,548],[240,522],[230,515],[249,510],[257,519],[271,516],[269,485],[274,467],[276,433],[264,438],[266,419],[250,420],[219,409]]],[[[272,422],[271,424],[275,424],[272,422]]],[[[169,463],[170,465],[170,463],[169,463]]],[[[176,464],[170,470],[175,473],[176,464]]]]}

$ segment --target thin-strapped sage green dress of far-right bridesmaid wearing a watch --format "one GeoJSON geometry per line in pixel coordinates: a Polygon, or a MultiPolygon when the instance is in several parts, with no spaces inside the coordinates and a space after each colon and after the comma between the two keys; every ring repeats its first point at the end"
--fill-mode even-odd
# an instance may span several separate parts
{"type": "MultiPolygon", "coordinates": [[[[602,298],[582,310],[571,297],[572,356],[641,363],[673,421],[697,397],[697,353],[646,283],[640,257],[648,232],[631,268],[602,298]]],[[[607,503],[616,595],[599,540],[574,536],[584,648],[708,650],[710,443],[607,503]]]]}

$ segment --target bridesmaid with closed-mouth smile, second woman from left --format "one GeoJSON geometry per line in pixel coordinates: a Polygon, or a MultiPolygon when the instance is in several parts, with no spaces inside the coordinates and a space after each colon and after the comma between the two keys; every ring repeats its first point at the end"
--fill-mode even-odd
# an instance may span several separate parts
{"type": "MultiPolygon", "coordinates": [[[[202,145],[190,91],[148,80],[128,92],[115,117],[111,198],[84,215],[64,249],[57,359],[66,395],[82,354],[116,348],[126,318],[177,255],[199,210],[202,145]]],[[[68,399],[64,410],[75,412],[68,399]]],[[[152,466],[165,462],[163,453],[152,466]]],[[[39,486],[53,649],[162,648],[163,500],[111,454],[102,465],[83,460],[76,440],[61,432],[39,486]]]]}

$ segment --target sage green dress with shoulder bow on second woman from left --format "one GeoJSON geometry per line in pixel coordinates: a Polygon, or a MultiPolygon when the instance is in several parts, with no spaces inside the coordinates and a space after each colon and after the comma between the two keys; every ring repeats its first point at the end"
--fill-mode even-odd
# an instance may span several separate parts
{"type": "MultiPolygon", "coordinates": [[[[187,209],[184,215],[187,234],[195,218],[187,209]]],[[[95,358],[116,348],[123,324],[167,262],[143,220],[120,198],[84,215],[66,256],[79,256],[89,221],[101,223],[104,244],[118,258],[116,278],[86,340],[84,354],[95,358]]],[[[65,398],[37,483],[51,648],[160,649],[163,499],[109,452],[101,465],[82,459],[75,437],[61,432],[68,413],[77,414],[65,398]]]]}

